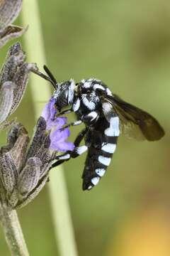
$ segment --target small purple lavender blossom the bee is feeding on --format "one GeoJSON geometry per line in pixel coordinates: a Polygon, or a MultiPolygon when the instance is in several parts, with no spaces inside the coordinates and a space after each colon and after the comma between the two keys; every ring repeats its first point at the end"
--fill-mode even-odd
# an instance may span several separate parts
{"type": "Polygon", "coordinates": [[[67,117],[55,117],[57,110],[55,108],[55,99],[52,97],[42,110],[42,117],[44,117],[47,124],[47,131],[50,131],[50,149],[65,152],[73,150],[74,144],[66,142],[69,137],[69,129],[62,129],[64,124],[67,124],[67,117]]]}

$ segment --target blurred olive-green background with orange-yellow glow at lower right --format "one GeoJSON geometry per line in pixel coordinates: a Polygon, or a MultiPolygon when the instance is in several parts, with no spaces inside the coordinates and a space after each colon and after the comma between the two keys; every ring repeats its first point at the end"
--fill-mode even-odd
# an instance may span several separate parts
{"type": "MultiPolygon", "coordinates": [[[[79,255],[169,256],[170,2],[38,2],[46,64],[57,80],[101,79],[124,100],[157,117],[166,131],[159,142],[120,136],[106,176],[90,192],[81,190],[86,156],[64,164],[79,255]]],[[[1,63],[10,45],[1,50],[1,63]]],[[[14,115],[32,134],[29,86],[14,115]]],[[[81,128],[72,129],[72,139],[81,128]]],[[[33,256],[59,255],[47,186],[18,210],[33,256]]],[[[2,230],[0,250],[9,255],[2,230]]]]}

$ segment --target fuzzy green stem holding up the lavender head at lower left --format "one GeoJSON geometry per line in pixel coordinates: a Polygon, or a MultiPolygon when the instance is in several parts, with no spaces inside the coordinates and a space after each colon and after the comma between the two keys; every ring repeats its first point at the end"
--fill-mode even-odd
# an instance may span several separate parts
{"type": "Polygon", "coordinates": [[[28,249],[23,238],[16,210],[7,210],[6,207],[0,204],[0,220],[11,255],[28,256],[28,249]]]}

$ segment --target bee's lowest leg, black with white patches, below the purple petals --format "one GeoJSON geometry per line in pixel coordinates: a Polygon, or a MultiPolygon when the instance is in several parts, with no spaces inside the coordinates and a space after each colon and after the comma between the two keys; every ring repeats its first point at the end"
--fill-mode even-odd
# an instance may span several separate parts
{"type": "Polygon", "coordinates": [[[77,138],[74,141],[75,148],[73,149],[73,151],[67,151],[64,154],[57,156],[56,158],[58,161],[55,161],[55,163],[53,163],[50,166],[50,169],[64,163],[64,161],[68,161],[71,158],[76,158],[77,156],[80,156],[87,150],[87,146],[79,146],[82,139],[84,139],[86,132],[87,132],[87,129],[85,128],[78,134],[77,138]]]}

